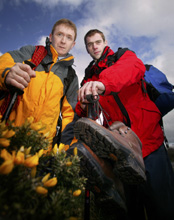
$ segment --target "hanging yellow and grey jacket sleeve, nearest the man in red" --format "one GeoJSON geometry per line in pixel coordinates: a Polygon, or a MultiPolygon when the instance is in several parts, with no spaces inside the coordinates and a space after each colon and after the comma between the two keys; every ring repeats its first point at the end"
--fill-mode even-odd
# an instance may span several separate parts
{"type": "Polygon", "coordinates": [[[75,113],[75,106],[77,103],[77,91],[79,89],[79,83],[77,76],[74,77],[72,83],[70,84],[67,94],[62,102],[62,132],[60,142],[65,145],[71,145],[75,142],[74,137],[74,124],[78,119],[75,113]]]}

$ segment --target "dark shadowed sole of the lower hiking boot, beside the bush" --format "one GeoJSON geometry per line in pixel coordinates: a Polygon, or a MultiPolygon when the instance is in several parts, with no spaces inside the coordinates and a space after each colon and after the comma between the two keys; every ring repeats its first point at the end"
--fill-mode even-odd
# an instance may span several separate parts
{"type": "Polygon", "coordinates": [[[114,181],[105,175],[99,163],[84,148],[83,143],[73,144],[67,154],[73,155],[74,147],[77,147],[80,157],[80,175],[88,179],[86,188],[94,193],[97,204],[108,204],[110,208],[115,207],[115,209],[126,212],[124,199],[117,191],[114,181]]]}

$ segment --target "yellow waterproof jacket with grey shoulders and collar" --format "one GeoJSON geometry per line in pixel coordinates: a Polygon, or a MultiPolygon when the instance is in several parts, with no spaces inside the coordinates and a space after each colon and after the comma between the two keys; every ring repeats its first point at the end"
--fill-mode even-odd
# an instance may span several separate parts
{"type": "MultiPolygon", "coordinates": [[[[0,57],[0,90],[8,90],[4,82],[9,69],[17,62],[23,63],[25,60],[31,60],[34,50],[35,46],[24,46],[20,50],[7,52],[0,57]]],[[[57,61],[58,54],[53,46],[50,45],[47,50],[48,54],[35,70],[36,77],[31,78],[28,87],[24,89],[19,99],[17,108],[13,108],[9,119],[14,120],[16,126],[20,126],[27,117],[33,116],[36,122],[41,121],[45,124],[50,132],[49,136],[54,137],[57,120],[61,113],[61,142],[70,144],[74,138],[73,126],[76,120],[74,109],[79,84],[75,74],[68,91],[64,94],[64,79],[68,74],[68,66],[73,64],[74,58],[68,54],[57,61]],[[45,71],[44,66],[47,66],[48,72],[45,71]],[[64,97],[63,102],[62,97],[64,97]]],[[[0,101],[0,105],[3,101],[0,101]]]]}

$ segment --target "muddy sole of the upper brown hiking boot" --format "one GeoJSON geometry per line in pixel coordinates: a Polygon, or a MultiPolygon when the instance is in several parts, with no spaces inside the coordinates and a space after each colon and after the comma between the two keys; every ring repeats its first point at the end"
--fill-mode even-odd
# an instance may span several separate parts
{"type": "Polygon", "coordinates": [[[74,133],[78,140],[87,144],[99,157],[114,162],[114,173],[128,184],[139,184],[146,180],[144,169],[133,153],[123,146],[108,129],[89,118],[80,118],[74,133]]]}

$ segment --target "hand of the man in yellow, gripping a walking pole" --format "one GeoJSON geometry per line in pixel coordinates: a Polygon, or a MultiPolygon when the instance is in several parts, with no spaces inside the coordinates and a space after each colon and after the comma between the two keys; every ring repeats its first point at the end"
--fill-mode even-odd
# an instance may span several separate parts
{"type": "Polygon", "coordinates": [[[25,89],[30,79],[36,77],[36,73],[27,64],[16,63],[6,76],[5,83],[18,89],[25,89]]]}

